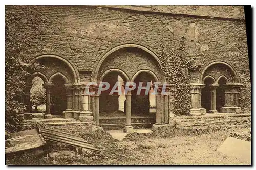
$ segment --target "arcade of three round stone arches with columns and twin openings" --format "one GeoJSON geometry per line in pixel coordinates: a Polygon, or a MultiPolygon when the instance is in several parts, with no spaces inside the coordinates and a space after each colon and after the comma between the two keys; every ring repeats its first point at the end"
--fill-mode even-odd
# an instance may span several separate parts
{"type": "MultiPolygon", "coordinates": [[[[43,114],[45,119],[62,114],[66,119],[94,121],[96,127],[99,127],[100,117],[118,114],[125,117],[126,132],[133,130],[133,116],[153,116],[153,127],[169,124],[172,112],[169,108],[169,89],[172,87],[168,84],[165,90],[167,93],[158,93],[154,96],[136,95],[138,88],[124,95],[124,87],[121,89],[121,96],[116,92],[109,95],[110,91],[103,91],[101,95],[97,95],[99,85],[86,89],[89,82],[80,82],[79,72],[71,61],[55,55],[43,55],[35,60],[47,69],[33,72],[27,79],[24,98],[27,108],[24,117],[26,115],[32,119],[30,89],[32,79],[38,76],[44,81],[43,86],[46,89],[46,112],[43,114]],[[96,93],[89,95],[86,90],[96,93]],[[152,106],[155,106],[153,111],[152,106]]],[[[102,56],[92,72],[91,82],[108,82],[110,90],[116,82],[121,85],[134,82],[137,87],[140,82],[143,87],[149,83],[151,90],[154,88],[154,82],[166,83],[160,62],[154,53],[134,46],[124,46],[102,56]]],[[[190,83],[190,87],[191,115],[241,112],[239,92],[243,85],[239,84],[236,71],[225,62],[212,62],[207,65],[201,71],[198,83],[190,83]]],[[[162,84],[158,92],[161,89],[162,84]]],[[[144,91],[142,90],[142,93],[144,91]]]]}

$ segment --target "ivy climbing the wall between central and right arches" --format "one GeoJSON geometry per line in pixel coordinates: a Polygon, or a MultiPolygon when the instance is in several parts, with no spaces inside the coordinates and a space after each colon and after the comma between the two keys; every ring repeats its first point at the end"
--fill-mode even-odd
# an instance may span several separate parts
{"type": "Polygon", "coordinates": [[[183,55],[184,41],[185,37],[182,37],[180,47],[173,51],[169,51],[168,46],[161,44],[161,50],[158,52],[166,81],[173,85],[170,88],[170,93],[173,97],[172,105],[174,108],[172,110],[175,115],[188,115],[191,101],[187,67],[189,61],[183,55]]]}

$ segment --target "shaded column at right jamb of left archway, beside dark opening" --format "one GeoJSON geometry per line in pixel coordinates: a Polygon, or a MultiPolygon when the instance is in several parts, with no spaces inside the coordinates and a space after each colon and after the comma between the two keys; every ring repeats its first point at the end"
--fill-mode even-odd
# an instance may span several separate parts
{"type": "Polygon", "coordinates": [[[73,117],[73,84],[64,84],[67,97],[67,109],[63,111],[64,118],[73,117]]]}

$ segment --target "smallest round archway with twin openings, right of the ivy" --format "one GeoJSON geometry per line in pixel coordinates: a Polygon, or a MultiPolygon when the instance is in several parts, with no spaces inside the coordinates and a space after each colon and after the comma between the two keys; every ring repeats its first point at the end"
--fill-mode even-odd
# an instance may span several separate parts
{"type": "Polygon", "coordinates": [[[193,106],[190,109],[190,114],[201,115],[205,113],[205,109],[209,113],[241,112],[238,93],[243,85],[239,84],[237,72],[230,64],[223,61],[211,62],[204,67],[199,77],[199,84],[191,84],[190,93],[193,106]],[[212,81],[208,81],[210,79],[212,81]],[[210,108],[208,106],[209,99],[210,108]],[[217,100],[218,102],[216,102],[217,100]]]}

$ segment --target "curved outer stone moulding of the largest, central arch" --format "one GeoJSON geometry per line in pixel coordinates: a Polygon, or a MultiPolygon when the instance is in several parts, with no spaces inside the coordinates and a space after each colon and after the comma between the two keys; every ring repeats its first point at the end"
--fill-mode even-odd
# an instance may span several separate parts
{"type": "Polygon", "coordinates": [[[96,63],[96,66],[93,69],[92,78],[97,79],[100,66],[103,63],[103,61],[106,59],[106,57],[108,57],[111,53],[113,53],[117,50],[120,50],[121,48],[126,48],[126,47],[140,48],[141,50],[144,50],[145,52],[149,53],[158,62],[160,69],[162,69],[160,59],[158,58],[158,56],[153,52],[153,50],[150,47],[145,46],[144,44],[141,44],[138,42],[119,43],[119,44],[116,44],[114,47],[108,48],[104,53],[102,53],[100,55],[100,60],[98,60],[98,62],[96,63]]]}

